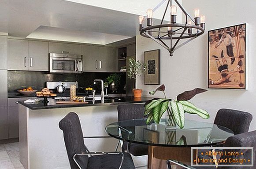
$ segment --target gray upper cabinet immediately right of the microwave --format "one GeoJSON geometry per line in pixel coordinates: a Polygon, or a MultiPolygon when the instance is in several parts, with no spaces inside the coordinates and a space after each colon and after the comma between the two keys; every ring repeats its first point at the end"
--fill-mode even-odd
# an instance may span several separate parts
{"type": "Polygon", "coordinates": [[[83,71],[92,72],[115,72],[116,51],[111,47],[81,46],[83,55],[83,71]]]}

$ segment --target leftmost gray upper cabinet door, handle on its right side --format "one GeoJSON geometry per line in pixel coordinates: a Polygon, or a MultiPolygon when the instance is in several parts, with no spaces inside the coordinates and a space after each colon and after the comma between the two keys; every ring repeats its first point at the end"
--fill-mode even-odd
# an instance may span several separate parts
{"type": "Polygon", "coordinates": [[[28,70],[28,41],[8,39],[8,70],[28,70]]]}

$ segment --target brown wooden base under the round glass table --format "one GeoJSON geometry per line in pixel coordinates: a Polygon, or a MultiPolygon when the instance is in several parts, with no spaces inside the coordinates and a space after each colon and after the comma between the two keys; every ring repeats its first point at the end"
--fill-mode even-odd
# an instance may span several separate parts
{"type": "MultiPolygon", "coordinates": [[[[167,169],[169,159],[190,165],[190,155],[190,147],[148,146],[148,169],[167,169]]],[[[193,157],[197,158],[197,150],[193,150],[193,157]]]]}

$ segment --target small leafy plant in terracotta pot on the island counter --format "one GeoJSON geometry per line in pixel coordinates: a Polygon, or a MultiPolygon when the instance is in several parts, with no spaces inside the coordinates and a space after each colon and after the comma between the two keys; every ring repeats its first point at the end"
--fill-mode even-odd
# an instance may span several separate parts
{"type": "MultiPolygon", "coordinates": [[[[137,76],[141,76],[146,72],[146,64],[141,61],[136,61],[134,58],[129,59],[129,68],[127,71],[127,75],[130,79],[135,79],[137,76]]],[[[142,90],[141,89],[133,89],[134,97],[141,97],[142,90]]]]}

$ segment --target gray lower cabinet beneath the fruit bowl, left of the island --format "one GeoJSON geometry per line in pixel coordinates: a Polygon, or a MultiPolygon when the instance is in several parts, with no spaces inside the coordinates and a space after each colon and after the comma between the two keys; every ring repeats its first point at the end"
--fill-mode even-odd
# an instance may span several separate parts
{"type": "Polygon", "coordinates": [[[19,137],[19,107],[17,101],[26,101],[30,97],[8,98],[8,138],[19,137]]]}

